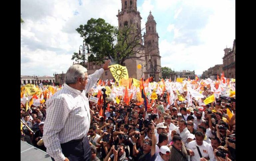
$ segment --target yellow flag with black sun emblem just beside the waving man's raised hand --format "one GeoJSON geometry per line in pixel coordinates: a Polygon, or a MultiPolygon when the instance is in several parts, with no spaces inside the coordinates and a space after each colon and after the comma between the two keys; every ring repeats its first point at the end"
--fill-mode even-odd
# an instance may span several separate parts
{"type": "Polygon", "coordinates": [[[115,80],[117,82],[120,82],[121,79],[128,79],[128,71],[127,68],[125,66],[121,66],[119,64],[115,64],[115,65],[110,65],[108,66],[110,67],[110,72],[112,73],[113,77],[115,78],[115,80]]]}

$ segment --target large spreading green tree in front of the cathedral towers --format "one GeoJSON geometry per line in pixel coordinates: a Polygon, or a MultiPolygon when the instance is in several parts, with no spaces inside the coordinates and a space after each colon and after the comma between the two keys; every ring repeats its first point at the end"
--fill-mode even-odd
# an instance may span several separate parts
{"type": "MultiPolygon", "coordinates": [[[[135,26],[117,27],[106,23],[104,19],[93,19],[87,24],[80,25],[76,31],[84,39],[87,50],[92,53],[88,59],[90,62],[103,63],[106,59],[111,59],[113,63],[124,65],[124,61],[132,57],[144,57],[141,39],[141,30],[135,26]],[[136,54],[138,53],[138,54],[136,54]]],[[[74,53],[72,60],[81,60],[77,53],[74,53]]]]}

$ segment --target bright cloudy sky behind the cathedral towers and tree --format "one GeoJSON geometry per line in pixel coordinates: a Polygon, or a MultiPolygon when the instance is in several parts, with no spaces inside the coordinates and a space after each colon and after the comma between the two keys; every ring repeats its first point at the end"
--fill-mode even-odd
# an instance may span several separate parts
{"type": "MultiPolygon", "coordinates": [[[[162,67],[204,70],[222,64],[235,39],[235,0],[137,0],[142,28],[151,10],[157,22],[162,67]]],[[[90,18],[118,26],[121,0],[21,0],[21,75],[61,73],[73,64],[90,18]]]]}

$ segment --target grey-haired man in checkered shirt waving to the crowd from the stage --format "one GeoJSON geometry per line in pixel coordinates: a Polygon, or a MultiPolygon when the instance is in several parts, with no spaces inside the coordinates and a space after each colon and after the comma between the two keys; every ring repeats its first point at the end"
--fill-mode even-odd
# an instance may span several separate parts
{"type": "Polygon", "coordinates": [[[43,140],[47,153],[55,161],[84,160],[91,157],[86,136],[90,124],[90,108],[86,93],[105,70],[103,67],[87,75],[87,69],[74,64],[65,75],[65,86],[46,101],[47,117],[43,140]]]}

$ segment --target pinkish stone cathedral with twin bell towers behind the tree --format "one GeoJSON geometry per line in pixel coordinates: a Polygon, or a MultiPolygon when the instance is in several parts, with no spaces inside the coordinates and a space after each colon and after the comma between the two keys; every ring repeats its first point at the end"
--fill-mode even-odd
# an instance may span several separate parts
{"type": "MultiPolygon", "coordinates": [[[[134,25],[139,31],[141,31],[141,16],[137,10],[137,0],[121,0],[122,9],[118,10],[118,28],[122,28],[125,25],[134,25]]],[[[137,57],[144,53],[145,56],[140,58],[129,58],[125,60],[125,66],[127,67],[129,77],[147,79],[153,76],[155,81],[159,81],[162,77],[161,73],[161,56],[158,46],[158,33],[156,31],[156,21],[154,16],[149,12],[149,16],[146,22],[146,33],[144,32],[143,49],[140,53],[136,53],[137,57]],[[135,65],[136,64],[136,65],[135,65]],[[141,64],[142,68],[138,69],[137,66],[141,64]]]]}

